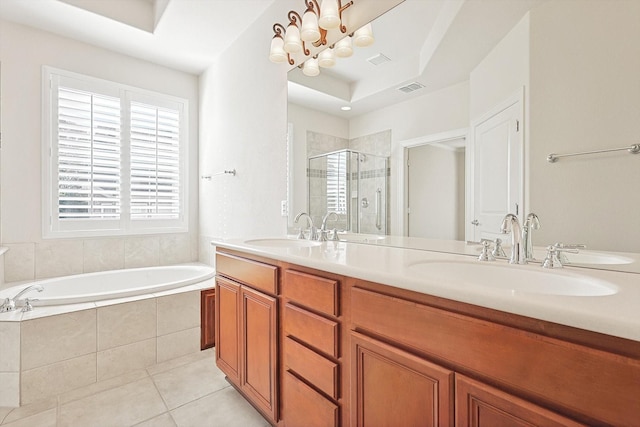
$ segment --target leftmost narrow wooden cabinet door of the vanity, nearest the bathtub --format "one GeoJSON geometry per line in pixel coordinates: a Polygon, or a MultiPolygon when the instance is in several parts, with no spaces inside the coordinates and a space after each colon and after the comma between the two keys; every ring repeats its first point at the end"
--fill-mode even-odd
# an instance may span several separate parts
{"type": "Polygon", "coordinates": [[[216,364],[240,385],[240,285],[216,278],[215,306],[216,364]]]}

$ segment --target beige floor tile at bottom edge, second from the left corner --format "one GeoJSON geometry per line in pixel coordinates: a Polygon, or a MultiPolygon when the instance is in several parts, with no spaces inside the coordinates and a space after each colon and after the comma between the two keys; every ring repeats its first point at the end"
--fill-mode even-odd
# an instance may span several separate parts
{"type": "Polygon", "coordinates": [[[145,378],[61,405],[58,426],[131,426],[166,411],[153,381],[145,378]]]}

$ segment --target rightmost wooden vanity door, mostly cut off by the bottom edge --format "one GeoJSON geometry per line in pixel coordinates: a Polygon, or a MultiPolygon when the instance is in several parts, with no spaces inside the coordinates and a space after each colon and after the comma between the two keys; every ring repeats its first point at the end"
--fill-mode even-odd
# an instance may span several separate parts
{"type": "Polygon", "coordinates": [[[456,427],[581,425],[526,400],[456,374],[456,427]]]}

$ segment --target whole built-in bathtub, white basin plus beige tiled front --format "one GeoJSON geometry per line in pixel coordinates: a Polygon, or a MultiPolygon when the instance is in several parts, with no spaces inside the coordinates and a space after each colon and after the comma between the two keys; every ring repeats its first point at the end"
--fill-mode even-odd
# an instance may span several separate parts
{"type": "Polygon", "coordinates": [[[214,269],[179,264],[86,273],[0,291],[0,407],[28,405],[200,351],[214,269]],[[22,312],[25,298],[33,310],[22,312]],[[37,301],[36,301],[37,299],[37,301]]]}

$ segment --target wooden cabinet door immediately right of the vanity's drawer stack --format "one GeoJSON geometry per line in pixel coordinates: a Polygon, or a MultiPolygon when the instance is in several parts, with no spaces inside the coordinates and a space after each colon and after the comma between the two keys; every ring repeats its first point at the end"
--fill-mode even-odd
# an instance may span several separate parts
{"type": "Polygon", "coordinates": [[[453,426],[453,372],[351,333],[352,426],[453,426]]]}

